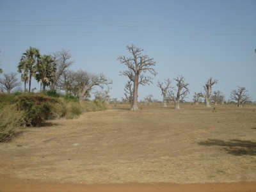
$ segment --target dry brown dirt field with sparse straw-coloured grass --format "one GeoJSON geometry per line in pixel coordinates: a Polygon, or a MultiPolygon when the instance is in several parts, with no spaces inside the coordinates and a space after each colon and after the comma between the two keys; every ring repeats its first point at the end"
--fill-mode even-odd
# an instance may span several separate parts
{"type": "Polygon", "coordinates": [[[256,191],[256,106],[109,106],[0,143],[0,191],[256,191]]]}

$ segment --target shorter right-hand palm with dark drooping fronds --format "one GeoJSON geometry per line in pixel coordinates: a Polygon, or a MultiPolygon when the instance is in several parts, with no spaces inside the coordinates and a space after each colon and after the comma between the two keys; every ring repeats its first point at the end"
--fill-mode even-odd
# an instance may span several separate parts
{"type": "Polygon", "coordinates": [[[52,75],[56,71],[53,64],[54,60],[49,55],[42,56],[36,64],[35,78],[41,83],[41,90],[42,88],[45,90],[46,86],[52,82],[52,75]]]}

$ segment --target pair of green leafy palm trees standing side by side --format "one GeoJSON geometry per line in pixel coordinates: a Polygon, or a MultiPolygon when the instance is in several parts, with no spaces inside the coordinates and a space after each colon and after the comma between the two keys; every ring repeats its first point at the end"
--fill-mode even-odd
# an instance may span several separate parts
{"type": "Polygon", "coordinates": [[[56,65],[51,55],[41,56],[39,49],[29,47],[20,58],[18,72],[21,73],[22,81],[24,81],[24,92],[26,92],[27,83],[29,83],[28,92],[31,92],[32,77],[40,83],[41,90],[45,90],[46,86],[52,82],[56,65]]]}

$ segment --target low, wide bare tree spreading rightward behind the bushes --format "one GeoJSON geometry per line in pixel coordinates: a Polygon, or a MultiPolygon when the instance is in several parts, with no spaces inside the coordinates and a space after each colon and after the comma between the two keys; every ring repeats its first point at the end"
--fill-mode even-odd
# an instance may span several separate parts
{"type": "Polygon", "coordinates": [[[86,93],[90,92],[94,86],[103,88],[104,84],[111,84],[111,81],[109,81],[103,74],[95,75],[79,70],[73,72],[72,76],[74,77],[72,90],[80,101],[84,99],[86,93]]]}

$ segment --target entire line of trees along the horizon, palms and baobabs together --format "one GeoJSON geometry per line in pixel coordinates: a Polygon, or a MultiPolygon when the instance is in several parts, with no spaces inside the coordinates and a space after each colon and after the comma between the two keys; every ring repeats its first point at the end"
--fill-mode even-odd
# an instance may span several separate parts
{"type": "MultiPolygon", "coordinates": [[[[126,48],[131,56],[118,56],[117,60],[127,68],[120,72],[122,76],[128,77],[124,88],[124,100],[130,102],[131,110],[136,111],[138,110],[138,87],[140,84],[142,86],[152,84],[152,76],[157,75],[154,69],[156,61],[154,58],[143,54],[143,49],[135,45],[127,45],[126,48]]],[[[112,83],[104,74],[70,70],[69,67],[73,63],[69,51],[61,50],[49,55],[42,55],[39,49],[29,47],[22,54],[17,66],[17,72],[21,74],[21,81],[24,82],[24,92],[31,92],[32,77],[40,83],[40,91],[44,92],[48,87],[49,90],[74,95],[79,100],[90,97],[94,86],[100,86],[103,89],[105,85],[112,83]]],[[[1,73],[3,73],[2,69],[0,69],[1,73]]],[[[164,82],[158,81],[157,87],[161,89],[161,95],[163,95],[163,107],[166,107],[168,102],[175,102],[175,109],[180,109],[180,102],[184,102],[189,94],[189,83],[181,75],[173,80],[175,86],[172,86],[172,80],[167,78],[164,79],[164,82]]],[[[211,101],[215,104],[223,103],[224,95],[219,90],[212,95],[212,86],[216,83],[218,80],[210,77],[204,85],[205,92],[195,93],[193,101],[198,104],[204,99],[206,107],[211,107],[211,101]]],[[[3,77],[0,78],[1,92],[10,93],[13,88],[19,86],[20,81],[16,73],[3,74],[3,77]]],[[[109,90],[108,87],[102,92],[95,92],[95,97],[108,101],[109,90]]],[[[242,104],[250,101],[250,96],[246,92],[246,88],[238,86],[236,90],[232,90],[230,93],[230,100],[237,102],[237,106],[241,107],[242,104]]]]}

